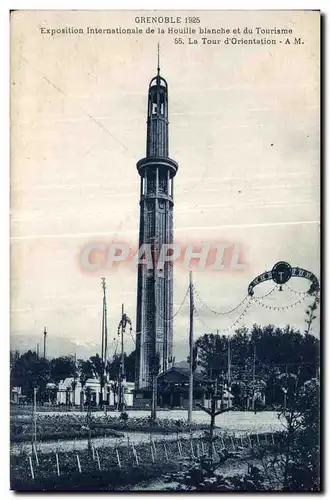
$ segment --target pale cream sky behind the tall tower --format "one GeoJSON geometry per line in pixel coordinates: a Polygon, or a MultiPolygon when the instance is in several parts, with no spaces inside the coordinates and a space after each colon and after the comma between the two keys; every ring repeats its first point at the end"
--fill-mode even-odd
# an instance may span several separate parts
{"type": "MultiPolygon", "coordinates": [[[[143,12],[144,16],[148,13],[143,12]]],[[[157,13],[157,15],[169,13],[157,13]]],[[[11,24],[11,342],[35,348],[47,326],[49,355],[100,351],[107,278],[109,351],[121,304],[135,328],[136,272],[128,265],[83,271],[93,242],[138,242],[139,178],[147,91],[156,72],[169,86],[174,239],[240,245],[243,270],[193,271],[197,338],[226,330],[248,284],[284,260],[319,277],[319,14],[194,12],[200,27],[292,28],[303,44],[175,44],[170,35],[49,36],[40,28],[134,28],[141,12],[16,11],[11,24]],[[200,302],[199,297],[203,302],[200,302]],[[206,326],[205,326],[206,325],[206,326]]],[[[150,12],[150,15],[155,15],[150,12]]],[[[185,17],[187,12],[175,12],[185,17]]],[[[149,25],[138,25],[146,29],[149,25]]],[[[168,26],[152,25],[157,28],[168,26]]],[[[177,25],[170,25],[177,28],[177,25]]],[[[181,27],[181,26],[180,26],[181,27]]],[[[232,36],[232,35],[230,35],[232,36]]],[[[223,36],[210,36],[222,39],[223,36]]],[[[174,267],[174,311],[188,286],[174,267]]],[[[305,291],[308,283],[292,279],[305,291]]],[[[260,285],[262,295],[273,287],[260,285]]],[[[264,301],[290,305],[290,291],[264,301]]],[[[304,329],[306,300],[285,311],[252,304],[237,326],[304,329]]],[[[187,355],[187,302],[174,319],[174,355],[187,355]]],[[[318,322],[313,333],[318,335],[318,322]]],[[[225,334],[232,334],[226,330],[225,334]]],[[[134,348],[127,333],[125,347],[134,348]]],[[[116,339],[116,340],[114,340],[116,339]]],[[[41,348],[41,347],[40,347],[41,348]]]]}

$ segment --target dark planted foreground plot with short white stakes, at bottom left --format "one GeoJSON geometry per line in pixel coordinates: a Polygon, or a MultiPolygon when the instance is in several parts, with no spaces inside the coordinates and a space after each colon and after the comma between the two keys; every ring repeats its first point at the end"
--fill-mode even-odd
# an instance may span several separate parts
{"type": "MultiPolygon", "coordinates": [[[[280,439],[280,434],[249,435],[244,439],[218,436],[212,447],[213,459],[217,462],[224,453],[233,453],[231,469],[236,467],[240,471],[258,450],[275,449],[280,439]]],[[[39,453],[35,448],[32,453],[21,452],[11,457],[11,485],[21,491],[130,489],[143,480],[161,479],[170,470],[182,470],[185,465],[205,457],[207,450],[208,443],[203,437],[170,441],[150,438],[149,442],[136,446],[129,442],[117,443],[115,448],[96,447],[91,443],[89,450],[52,454],[39,453]]]]}

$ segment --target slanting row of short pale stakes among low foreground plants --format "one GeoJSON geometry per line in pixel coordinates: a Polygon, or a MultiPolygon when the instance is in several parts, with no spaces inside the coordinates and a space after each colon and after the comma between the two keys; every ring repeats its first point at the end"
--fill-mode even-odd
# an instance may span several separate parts
{"type": "MultiPolygon", "coordinates": [[[[250,439],[250,441],[246,439],[245,443],[243,443],[244,446],[241,446],[240,438],[227,435],[217,436],[214,438],[213,457],[220,456],[223,453],[222,450],[230,450],[230,452],[240,450],[244,453],[247,451],[250,453],[251,449],[266,444],[265,440],[261,441],[259,439],[257,441],[253,439],[253,436],[250,439]],[[251,443],[252,447],[249,446],[249,443],[251,443]]],[[[18,455],[11,457],[11,475],[13,478],[31,478],[31,466],[35,478],[58,474],[57,466],[59,466],[60,474],[64,472],[73,473],[79,469],[86,474],[90,474],[99,469],[103,470],[116,466],[121,468],[131,465],[196,459],[206,456],[207,453],[207,441],[201,438],[150,440],[136,445],[133,445],[128,440],[126,444],[117,442],[114,447],[98,448],[94,448],[92,442],[90,442],[89,448],[83,450],[58,451],[57,453],[48,454],[39,453],[37,446],[33,448],[32,454],[21,451],[18,455]]]]}

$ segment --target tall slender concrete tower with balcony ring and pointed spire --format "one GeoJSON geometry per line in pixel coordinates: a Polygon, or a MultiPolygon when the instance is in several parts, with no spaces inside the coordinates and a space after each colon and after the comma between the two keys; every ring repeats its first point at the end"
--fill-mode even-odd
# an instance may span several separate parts
{"type": "Polygon", "coordinates": [[[169,158],[168,86],[157,75],[148,91],[146,157],[137,163],[140,182],[139,247],[150,245],[153,266],[139,264],[137,280],[136,389],[151,385],[151,365],[159,354],[160,371],[168,367],[173,344],[173,267],[157,269],[163,244],[173,243],[173,182],[178,164],[169,158]]]}

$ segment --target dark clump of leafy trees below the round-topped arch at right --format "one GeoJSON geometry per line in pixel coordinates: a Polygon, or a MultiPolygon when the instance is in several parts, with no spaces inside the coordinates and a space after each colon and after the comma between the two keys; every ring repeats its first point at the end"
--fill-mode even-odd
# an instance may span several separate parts
{"type": "MultiPolygon", "coordinates": [[[[228,338],[205,334],[196,344],[202,373],[209,379],[225,377],[228,374],[228,338]]],[[[319,340],[290,326],[255,324],[250,330],[240,328],[231,336],[230,360],[230,390],[235,405],[247,409],[256,392],[261,396],[265,394],[266,404],[282,405],[283,391],[278,376],[287,370],[297,375],[299,370],[300,386],[315,377],[319,366],[319,340]]],[[[229,386],[229,380],[227,383],[229,386]]]]}

